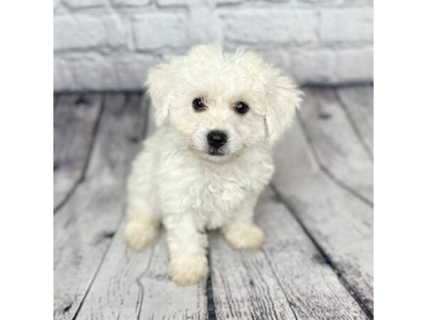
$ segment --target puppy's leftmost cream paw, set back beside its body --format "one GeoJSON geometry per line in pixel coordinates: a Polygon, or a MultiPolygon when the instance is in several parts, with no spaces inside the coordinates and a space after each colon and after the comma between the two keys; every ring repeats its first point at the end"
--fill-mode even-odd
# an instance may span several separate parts
{"type": "Polygon", "coordinates": [[[151,244],[157,236],[157,227],[149,223],[130,221],[125,227],[125,240],[134,250],[141,250],[151,244]]]}

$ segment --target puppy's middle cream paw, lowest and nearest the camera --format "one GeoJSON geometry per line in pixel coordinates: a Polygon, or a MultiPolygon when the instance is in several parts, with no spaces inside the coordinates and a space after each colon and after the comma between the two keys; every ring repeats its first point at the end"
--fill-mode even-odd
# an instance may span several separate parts
{"type": "Polygon", "coordinates": [[[169,274],[181,286],[196,284],[208,277],[208,259],[204,255],[173,257],[169,262],[169,274]]]}

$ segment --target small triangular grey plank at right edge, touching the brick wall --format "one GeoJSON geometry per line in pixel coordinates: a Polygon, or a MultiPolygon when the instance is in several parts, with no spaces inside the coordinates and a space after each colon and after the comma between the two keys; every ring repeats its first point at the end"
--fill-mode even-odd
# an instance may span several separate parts
{"type": "Polygon", "coordinates": [[[374,87],[342,87],[337,95],[365,149],[374,153],[374,87]]]}

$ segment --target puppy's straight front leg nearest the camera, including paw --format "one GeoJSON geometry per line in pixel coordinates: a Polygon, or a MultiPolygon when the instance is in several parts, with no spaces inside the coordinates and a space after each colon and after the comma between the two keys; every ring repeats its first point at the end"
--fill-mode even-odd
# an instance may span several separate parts
{"type": "Polygon", "coordinates": [[[196,284],[209,274],[208,237],[199,230],[191,214],[164,219],[169,247],[169,274],[176,284],[196,284]]]}

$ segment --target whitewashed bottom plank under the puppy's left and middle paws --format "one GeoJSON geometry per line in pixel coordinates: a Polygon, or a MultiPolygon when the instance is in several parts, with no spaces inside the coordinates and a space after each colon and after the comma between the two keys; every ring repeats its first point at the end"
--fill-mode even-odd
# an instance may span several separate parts
{"type": "Polygon", "coordinates": [[[169,279],[164,233],[152,247],[135,252],[125,244],[123,227],[78,319],[206,319],[204,282],[179,287],[169,279]]]}

